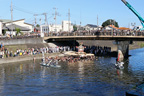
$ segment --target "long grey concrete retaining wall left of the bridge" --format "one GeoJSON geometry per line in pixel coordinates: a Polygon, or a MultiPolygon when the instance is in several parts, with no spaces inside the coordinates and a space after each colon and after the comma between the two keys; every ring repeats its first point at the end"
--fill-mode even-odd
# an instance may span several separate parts
{"type": "Polygon", "coordinates": [[[4,45],[38,44],[43,43],[43,38],[2,39],[0,40],[0,43],[3,43],[4,45]]]}

